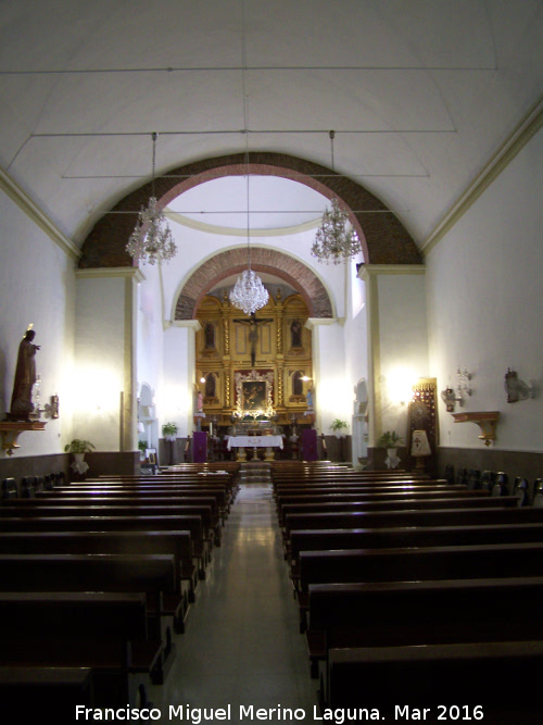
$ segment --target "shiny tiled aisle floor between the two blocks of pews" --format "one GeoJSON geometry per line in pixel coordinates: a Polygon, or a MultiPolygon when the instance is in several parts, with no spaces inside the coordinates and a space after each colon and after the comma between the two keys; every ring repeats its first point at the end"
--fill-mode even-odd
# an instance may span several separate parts
{"type": "MultiPolygon", "coordinates": [[[[207,578],[199,583],[187,630],[175,641],[177,657],[167,679],[150,692],[163,714],[159,722],[173,722],[169,705],[228,704],[231,723],[250,720],[240,717],[240,705],[301,709],[306,713],[301,722],[314,722],[317,683],[310,677],[299,632],[270,486],[241,487],[223,545],[213,552],[207,578]]],[[[174,720],[190,722],[189,713],[174,720]]],[[[279,720],[285,717],[270,713],[268,722],[279,720]]]]}

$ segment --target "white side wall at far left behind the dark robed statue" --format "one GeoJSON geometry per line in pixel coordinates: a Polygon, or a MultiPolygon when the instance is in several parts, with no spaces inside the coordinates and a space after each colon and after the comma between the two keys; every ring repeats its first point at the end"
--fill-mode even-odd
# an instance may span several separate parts
{"type": "MultiPolygon", "coordinates": [[[[60,417],[23,433],[14,457],[58,453],[71,435],[75,261],[0,192],[0,418],[9,411],[17,350],[34,323],[41,407],[60,398],[60,417]]],[[[43,418],[48,420],[48,418],[43,418]]],[[[3,452],[0,452],[3,455],[3,452]]]]}

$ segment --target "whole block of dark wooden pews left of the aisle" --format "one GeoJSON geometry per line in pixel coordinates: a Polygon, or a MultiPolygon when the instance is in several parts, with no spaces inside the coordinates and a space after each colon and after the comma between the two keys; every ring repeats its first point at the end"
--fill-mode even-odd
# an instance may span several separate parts
{"type": "Polygon", "coordinates": [[[220,546],[237,477],[237,465],[184,466],[2,498],[0,689],[26,688],[43,703],[62,680],[66,708],[74,697],[148,704],[220,546]]]}

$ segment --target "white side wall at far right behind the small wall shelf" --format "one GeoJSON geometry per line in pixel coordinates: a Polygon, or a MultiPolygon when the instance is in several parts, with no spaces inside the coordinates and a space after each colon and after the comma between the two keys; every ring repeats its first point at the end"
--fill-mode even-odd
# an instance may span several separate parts
{"type": "MultiPolygon", "coordinates": [[[[543,134],[520,151],[427,259],[430,359],[439,389],[473,374],[456,412],[498,411],[494,447],[543,450],[543,397],[507,403],[510,367],[543,382],[543,134]]],[[[479,428],[440,402],[441,445],[479,448],[479,428]]]]}

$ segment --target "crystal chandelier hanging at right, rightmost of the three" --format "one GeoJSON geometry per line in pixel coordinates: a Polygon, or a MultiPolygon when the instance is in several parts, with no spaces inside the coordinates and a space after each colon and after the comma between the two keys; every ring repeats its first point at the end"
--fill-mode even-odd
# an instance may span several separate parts
{"type": "MultiPolygon", "coordinates": [[[[332,171],[334,136],[336,133],[331,130],[332,171]]],[[[340,209],[338,199],[332,197],[331,210],[327,208],[323,214],[323,223],[317,229],[311,253],[325,264],[341,264],[356,257],[361,251],[361,242],[356,232],[349,223],[349,214],[340,209]]]]}

